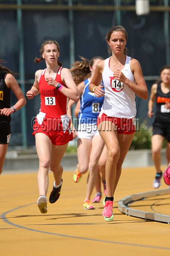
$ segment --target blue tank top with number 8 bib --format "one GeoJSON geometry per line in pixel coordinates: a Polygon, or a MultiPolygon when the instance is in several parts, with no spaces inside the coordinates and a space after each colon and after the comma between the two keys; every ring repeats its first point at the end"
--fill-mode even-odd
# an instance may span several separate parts
{"type": "MultiPolygon", "coordinates": [[[[85,88],[80,98],[79,124],[96,124],[97,116],[101,110],[104,97],[97,98],[93,92],[89,90],[90,80],[84,81],[85,88]]],[[[103,82],[102,84],[103,85],[103,82]]]]}

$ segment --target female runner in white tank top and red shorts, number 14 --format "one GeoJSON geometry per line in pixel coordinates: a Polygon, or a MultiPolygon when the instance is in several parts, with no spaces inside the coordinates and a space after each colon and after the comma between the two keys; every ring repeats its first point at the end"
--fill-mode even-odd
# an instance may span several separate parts
{"type": "Polygon", "coordinates": [[[106,40],[112,56],[97,64],[89,90],[104,102],[98,116],[98,130],[108,157],[106,162],[107,196],[103,216],[113,220],[113,195],[121,176],[122,164],[135,132],[135,94],[146,100],[148,90],[139,62],[127,56],[127,32],[122,26],[111,28],[106,40]],[[98,86],[103,79],[103,86],[98,86]]]}

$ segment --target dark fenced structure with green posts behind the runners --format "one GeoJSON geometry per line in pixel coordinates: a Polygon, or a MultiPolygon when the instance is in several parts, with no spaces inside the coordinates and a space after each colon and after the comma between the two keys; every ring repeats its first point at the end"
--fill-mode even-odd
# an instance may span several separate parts
{"type": "MultiPolygon", "coordinates": [[[[44,40],[59,43],[59,60],[69,68],[79,55],[108,58],[106,33],[122,25],[128,33],[129,55],[139,60],[150,93],[160,68],[170,64],[169,12],[168,0],[150,0],[147,16],[136,16],[134,0],[0,0],[0,55],[8,68],[21,74],[18,83],[25,94],[37,68],[45,68],[44,62],[34,63],[44,40]]],[[[136,118],[149,127],[154,119],[147,116],[147,104],[136,96],[136,118]]],[[[12,116],[10,146],[35,145],[31,121],[39,108],[36,97],[12,116]]]]}

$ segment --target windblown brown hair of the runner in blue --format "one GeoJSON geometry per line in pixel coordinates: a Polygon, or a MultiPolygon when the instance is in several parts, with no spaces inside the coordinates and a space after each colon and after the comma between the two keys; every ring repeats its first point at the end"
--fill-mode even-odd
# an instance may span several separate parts
{"type": "Polygon", "coordinates": [[[97,59],[103,60],[101,56],[95,56],[91,60],[79,56],[81,60],[74,61],[71,65],[70,71],[73,76],[75,84],[79,84],[91,76],[91,71],[89,66],[93,66],[94,61],[97,59]]]}

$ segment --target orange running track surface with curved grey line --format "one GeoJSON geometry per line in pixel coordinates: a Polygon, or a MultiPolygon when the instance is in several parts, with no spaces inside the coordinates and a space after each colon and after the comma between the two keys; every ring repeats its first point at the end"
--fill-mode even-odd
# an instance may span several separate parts
{"type": "MultiPolygon", "coordinates": [[[[76,184],[73,171],[63,172],[59,200],[48,202],[47,214],[41,214],[36,204],[37,173],[4,172],[0,177],[0,256],[169,256],[170,225],[127,216],[117,208],[122,198],[153,190],[154,175],[154,167],[123,169],[115,193],[114,220],[105,222],[104,195],[95,210],[83,209],[87,174],[76,184]]],[[[47,198],[52,186],[50,172],[47,198]]],[[[163,179],[160,188],[167,188],[163,179]]],[[[132,206],[162,214],[170,209],[170,196],[141,202],[132,206]]]]}

